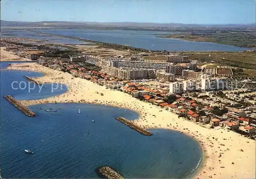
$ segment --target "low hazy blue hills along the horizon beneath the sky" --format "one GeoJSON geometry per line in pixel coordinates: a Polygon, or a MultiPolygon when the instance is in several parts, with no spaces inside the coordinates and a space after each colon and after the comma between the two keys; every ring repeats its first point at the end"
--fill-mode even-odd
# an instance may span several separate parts
{"type": "Polygon", "coordinates": [[[254,28],[252,24],[183,24],[183,23],[149,23],[149,22],[67,22],[40,21],[22,22],[1,20],[1,26],[8,27],[137,27],[137,28],[254,28]]]}

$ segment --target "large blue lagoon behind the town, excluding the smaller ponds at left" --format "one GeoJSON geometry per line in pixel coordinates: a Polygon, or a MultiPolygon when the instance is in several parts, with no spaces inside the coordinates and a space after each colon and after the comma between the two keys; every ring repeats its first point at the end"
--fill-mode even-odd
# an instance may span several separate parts
{"type": "Polygon", "coordinates": [[[155,31],[121,31],[121,30],[89,30],[89,29],[41,29],[37,32],[46,32],[53,35],[78,37],[105,43],[115,43],[132,47],[175,51],[243,51],[231,45],[211,42],[193,42],[181,39],[159,38],[156,36],[170,34],[169,32],[155,31]]]}

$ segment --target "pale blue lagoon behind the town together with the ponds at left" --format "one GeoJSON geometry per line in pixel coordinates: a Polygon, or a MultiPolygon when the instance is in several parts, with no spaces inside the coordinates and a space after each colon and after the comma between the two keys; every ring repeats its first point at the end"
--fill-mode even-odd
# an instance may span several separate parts
{"type": "MultiPolygon", "coordinates": [[[[137,48],[151,50],[175,51],[244,51],[249,48],[241,48],[232,45],[223,45],[211,42],[193,42],[181,39],[160,38],[156,36],[171,34],[170,32],[158,31],[122,31],[122,30],[91,30],[91,29],[37,29],[37,32],[46,32],[52,34],[49,36],[37,32],[26,30],[1,30],[3,37],[23,37],[37,40],[46,40],[47,43],[62,44],[84,44],[88,42],[75,39],[57,37],[54,35],[63,35],[78,37],[87,40],[100,41],[105,43],[115,43],[128,45],[137,48]]],[[[90,43],[92,44],[92,43],[90,43]]]]}

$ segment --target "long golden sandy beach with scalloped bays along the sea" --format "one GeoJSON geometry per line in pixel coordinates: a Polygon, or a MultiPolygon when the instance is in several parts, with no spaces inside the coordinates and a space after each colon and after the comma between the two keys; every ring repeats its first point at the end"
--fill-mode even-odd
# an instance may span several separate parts
{"type": "Polygon", "coordinates": [[[26,106],[55,102],[80,102],[131,109],[140,114],[140,118],[134,121],[138,125],[147,129],[162,128],[182,131],[199,142],[204,151],[204,160],[195,178],[255,178],[255,141],[251,139],[222,129],[206,129],[178,118],[176,114],[165,109],[140,101],[129,94],[105,89],[85,79],[73,79],[69,73],[52,70],[35,63],[12,64],[8,69],[41,72],[45,76],[34,78],[34,80],[40,83],[65,84],[69,88],[68,92],[54,97],[22,101],[26,106]]]}

